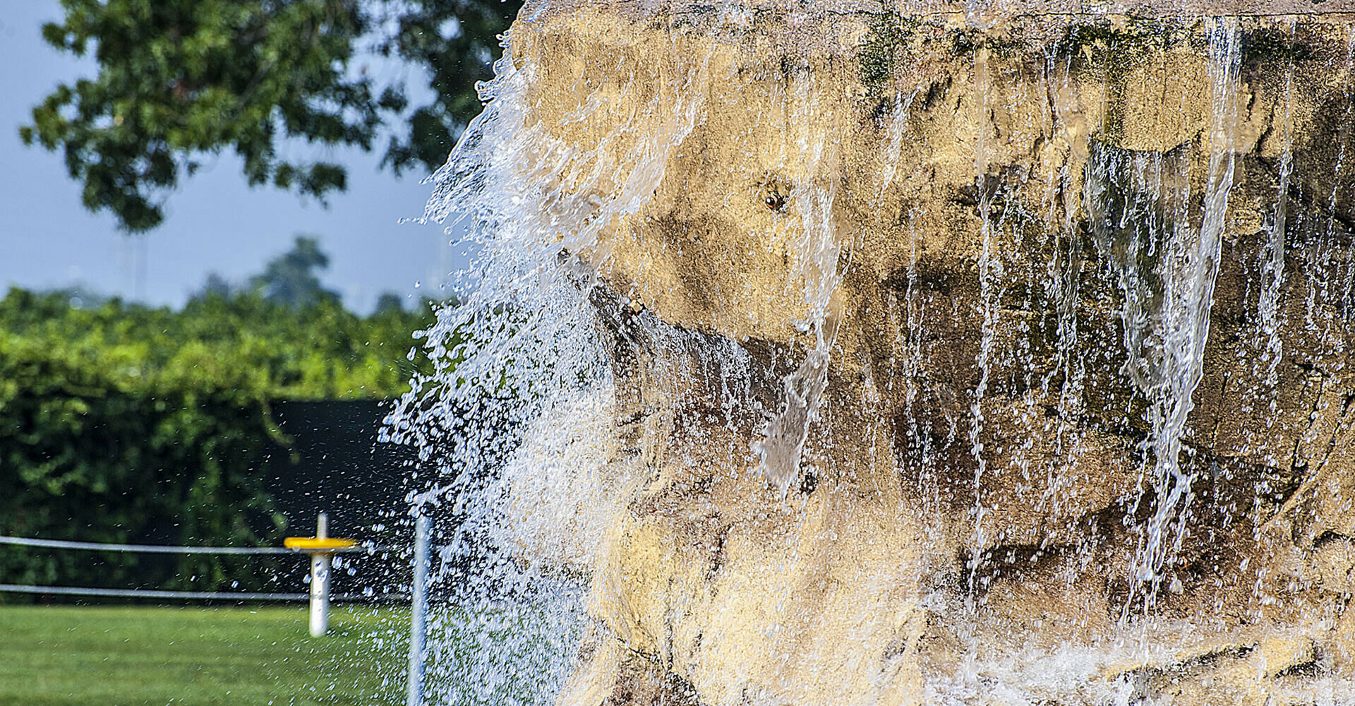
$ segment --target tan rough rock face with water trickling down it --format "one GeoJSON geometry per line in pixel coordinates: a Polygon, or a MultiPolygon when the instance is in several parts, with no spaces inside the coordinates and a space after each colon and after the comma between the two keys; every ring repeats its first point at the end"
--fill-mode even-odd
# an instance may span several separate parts
{"type": "Polygon", "coordinates": [[[560,703],[1355,698],[1355,8],[1064,5],[523,9],[615,394],[560,703]]]}

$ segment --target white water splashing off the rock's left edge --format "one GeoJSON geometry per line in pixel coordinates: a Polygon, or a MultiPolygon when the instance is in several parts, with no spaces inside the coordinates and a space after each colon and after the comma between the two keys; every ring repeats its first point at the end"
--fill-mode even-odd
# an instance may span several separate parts
{"type": "MultiPolygon", "coordinates": [[[[645,110],[612,112],[615,127],[580,149],[528,123],[539,68],[515,66],[511,37],[504,49],[481,87],[486,110],[432,176],[425,213],[469,218],[477,266],[455,287],[465,304],[440,309],[423,332],[435,367],[415,377],[383,430],[383,440],[419,447],[432,484],[415,504],[453,527],[435,576],[451,603],[430,641],[430,683],[440,686],[430,694],[447,703],[549,703],[568,676],[581,617],[577,585],[558,570],[588,565],[604,508],[591,508],[595,522],[570,520],[584,539],[569,547],[539,542],[558,537],[550,512],[589,505],[625,482],[599,476],[611,455],[606,436],[581,438],[577,427],[608,411],[599,400],[612,386],[592,346],[589,294],[608,256],[598,232],[644,202],[701,104],[695,77],[694,88],[679,83],[667,95],[631,81],[615,98],[645,110]],[[562,417],[570,424],[560,427],[562,417]],[[543,462],[561,474],[535,476],[543,462]]],[[[570,121],[612,107],[593,95],[570,121]]]]}

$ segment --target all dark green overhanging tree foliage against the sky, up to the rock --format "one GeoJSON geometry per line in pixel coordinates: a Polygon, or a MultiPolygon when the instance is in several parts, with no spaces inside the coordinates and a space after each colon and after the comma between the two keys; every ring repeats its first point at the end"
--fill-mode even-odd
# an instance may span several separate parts
{"type": "Polygon", "coordinates": [[[233,149],[252,186],[324,201],[343,165],[279,156],[283,140],[371,149],[382,121],[396,131],[383,165],[432,169],[480,111],[496,37],[520,0],[61,0],[43,26],[51,46],[99,75],[62,84],[19,133],[61,149],[89,210],[127,232],[164,220],[164,201],[205,156],[233,149]],[[382,35],[389,27],[390,35],[382,35]],[[436,99],[408,121],[404,84],[377,87],[352,64],[364,42],[430,69],[436,99]],[[379,89],[379,95],[378,95],[379,89]],[[408,127],[404,123],[408,122],[408,127]]]}

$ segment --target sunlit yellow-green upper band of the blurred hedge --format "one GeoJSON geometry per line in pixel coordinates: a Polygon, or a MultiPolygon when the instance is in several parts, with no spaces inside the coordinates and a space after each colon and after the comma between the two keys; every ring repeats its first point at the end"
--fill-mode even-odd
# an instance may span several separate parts
{"type": "Polygon", "coordinates": [[[329,298],[293,308],[257,293],[206,294],[180,312],[121,299],[73,308],[61,291],[0,299],[0,341],[64,351],[122,388],[217,386],[238,400],[398,397],[416,370],[412,332],[431,324],[427,302],[360,317],[329,298]]]}

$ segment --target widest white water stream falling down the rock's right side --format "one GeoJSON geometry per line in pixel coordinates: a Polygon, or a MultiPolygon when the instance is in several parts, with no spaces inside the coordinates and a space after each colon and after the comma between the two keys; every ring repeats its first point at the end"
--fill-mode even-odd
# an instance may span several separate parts
{"type": "Polygon", "coordinates": [[[1098,249],[1108,259],[1123,298],[1127,359],[1122,371],[1148,398],[1144,443],[1152,511],[1133,575],[1156,594],[1161,570],[1180,547],[1192,472],[1182,468],[1182,439],[1203,371],[1209,314],[1233,184],[1237,121],[1238,31],[1218,20],[1210,35],[1211,114],[1205,148],[1209,173],[1203,214],[1191,224],[1190,156],[1133,153],[1093,144],[1087,169],[1087,211],[1098,249]]]}

